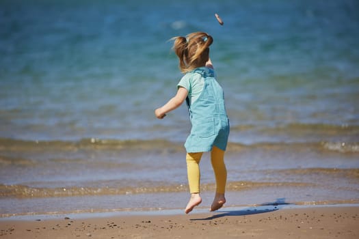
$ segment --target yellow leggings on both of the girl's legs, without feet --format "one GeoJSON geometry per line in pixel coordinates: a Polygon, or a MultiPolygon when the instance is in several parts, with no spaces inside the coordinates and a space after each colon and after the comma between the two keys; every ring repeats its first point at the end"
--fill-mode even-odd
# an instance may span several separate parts
{"type": "MultiPolygon", "coordinates": [[[[200,159],[203,152],[187,153],[187,176],[190,193],[200,193],[200,159]]],[[[224,151],[213,146],[211,163],[215,173],[216,193],[226,191],[227,169],[224,164],[224,151]]]]}

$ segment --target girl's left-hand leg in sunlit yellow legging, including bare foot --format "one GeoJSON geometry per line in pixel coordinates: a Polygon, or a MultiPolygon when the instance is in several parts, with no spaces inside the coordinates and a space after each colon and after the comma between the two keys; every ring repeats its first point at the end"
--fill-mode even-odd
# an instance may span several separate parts
{"type": "Polygon", "coordinates": [[[185,213],[191,212],[195,206],[198,206],[202,199],[200,197],[200,159],[202,157],[202,152],[199,153],[187,153],[186,162],[187,162],[187,177],[189,184],[189,192],[191,193],[191,198],[187,203],[185,213]]]}

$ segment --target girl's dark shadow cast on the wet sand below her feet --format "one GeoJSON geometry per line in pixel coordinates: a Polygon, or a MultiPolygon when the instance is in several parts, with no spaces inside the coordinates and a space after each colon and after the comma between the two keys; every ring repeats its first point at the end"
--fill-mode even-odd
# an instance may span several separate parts
{"type": "Polygon", "coordinates": [[[218,219],[223,216],[246,216],[252,214],[260,214],[266,212],[274,212],[276,210],[280,210],[285,205],[289,205],[290,203],[285,202],[285,198],[276,199],[274,202],[269,203],[262,203],[259,206],[253,206],[248,208],[243,208],[241,210],[230,210],[230,211],[220,211],[213,216],[209,216],[203,219],[190,219],[191,221],[206,221],[206,220],[213,220],[218,219]]]}

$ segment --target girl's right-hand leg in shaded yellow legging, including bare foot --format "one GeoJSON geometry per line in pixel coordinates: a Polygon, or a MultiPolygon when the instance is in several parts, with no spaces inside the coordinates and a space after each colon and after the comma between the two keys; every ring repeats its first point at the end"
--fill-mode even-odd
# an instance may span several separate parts
{"type": "Polygon", "coordinates": [[[226,192],[227,169],[224,164],[224,151],[213,146],[211,151],[211,163],[215,173],[216,183],[215,199],[213,200],[211,211],[215,211],[222,208],[223,204],[226,203],[224,193],[226,192]]]}

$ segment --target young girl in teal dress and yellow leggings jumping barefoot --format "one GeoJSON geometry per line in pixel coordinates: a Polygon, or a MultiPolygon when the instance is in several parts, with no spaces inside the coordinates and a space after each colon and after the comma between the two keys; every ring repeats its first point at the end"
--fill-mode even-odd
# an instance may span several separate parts
{"type": "Polygon", "coordinates": [[[191,197],[185,213],[198,206],[200,197],[199,163],[203,152],[211,152],[215,173],[216,193],[211,211],[222,208],[226,202],[227,171],[224,164],[229,121],[224,106],[222,87],[215,80],[215,72],[209,58],[209,46],[213,38],[204,32],[195,32],[185,37],[172,38],[174,52],[179,58],[179,68],[185,75],[178,83],[177,93],[155,115],[163,119],[165,114],[178,108],[185,100],[192,124],[191,133],[185,142],[187,151],[187,175],[191,197]]]}

